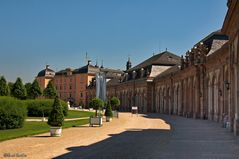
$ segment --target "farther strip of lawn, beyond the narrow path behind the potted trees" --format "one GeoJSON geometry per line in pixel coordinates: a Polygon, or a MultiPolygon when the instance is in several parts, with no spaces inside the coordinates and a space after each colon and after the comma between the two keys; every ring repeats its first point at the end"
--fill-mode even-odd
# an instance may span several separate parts
{"type": "MultiPolygon", "coordinates": [[[[68,115],[65,117],[65,119],[90,117],[94,114],[95,114],[94,112],[69,110],[68,115]]],[[[42,117],[27,117],[27,119],[42,119],[42,117]]]]}

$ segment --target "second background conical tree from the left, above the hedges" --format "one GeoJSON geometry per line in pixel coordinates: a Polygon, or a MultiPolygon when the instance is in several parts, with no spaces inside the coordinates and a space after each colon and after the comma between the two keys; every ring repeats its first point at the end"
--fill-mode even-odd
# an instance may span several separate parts
{"type": "Polygon", "coordinates": [[[26,99],[26,88],[22,83],[21,78],[17,78],[16,82],[12,86],[12,95],[18,99],[26,99]]]}

